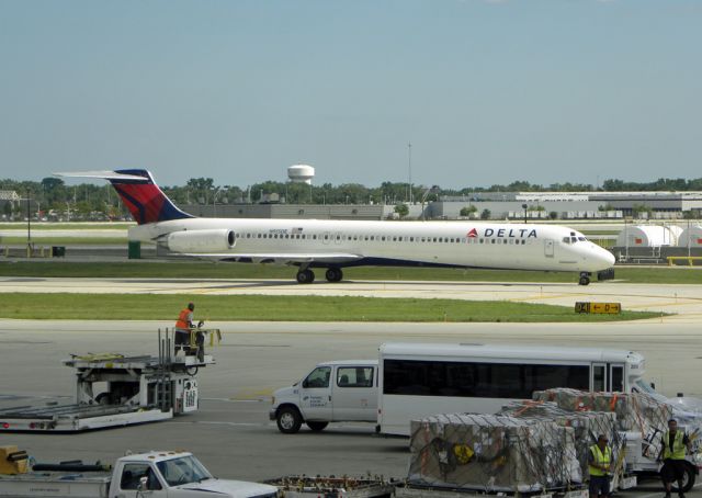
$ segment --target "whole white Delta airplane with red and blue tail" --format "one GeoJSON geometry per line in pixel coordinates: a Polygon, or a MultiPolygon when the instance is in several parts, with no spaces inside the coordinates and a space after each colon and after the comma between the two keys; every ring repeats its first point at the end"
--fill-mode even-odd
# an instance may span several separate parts
{"type": "Polygon", "coordinates": [[[129,240],[214,261],[294,265],[301,284],[315,280],[316,268],[339,282],[342,268],[376,265],[579,272],[587,285],[592,272],[614,264],[611,252],[564,226],[199,218],[179,210],[146,170],[55,174],[109,180],[137,222],[129,240]]]}

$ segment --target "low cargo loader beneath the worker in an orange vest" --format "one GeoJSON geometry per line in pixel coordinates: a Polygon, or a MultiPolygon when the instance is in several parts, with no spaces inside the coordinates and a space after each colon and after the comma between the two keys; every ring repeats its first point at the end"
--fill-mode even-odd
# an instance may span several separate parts
{"type": "MultiPolygon", "coordinates": [[[[218,329],[200,329],[222,338],[218,329]]],[[[166,420],[199,408],[196,374],[215,363],[194,340],[185,353],[173,353],[173,332],[158,331],[158,356],[104,353],[72,355],[63,363],[76,369],[75,403],[0,409],[2,432],[79,432],[166,420]],[[101,389],[105,386],[104,389],[101,389]]]]}

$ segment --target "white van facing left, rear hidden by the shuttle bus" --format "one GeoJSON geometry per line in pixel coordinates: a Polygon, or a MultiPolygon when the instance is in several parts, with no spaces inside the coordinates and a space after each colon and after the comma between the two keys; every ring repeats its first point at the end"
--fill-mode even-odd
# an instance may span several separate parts
{"type": "Polygon", "coordinates": [[[304,423],[313,431],[329,422],[377,421],[377,360],[319,363],[291,387],[273,393],[269,412],[285,434],[304,423]]]}

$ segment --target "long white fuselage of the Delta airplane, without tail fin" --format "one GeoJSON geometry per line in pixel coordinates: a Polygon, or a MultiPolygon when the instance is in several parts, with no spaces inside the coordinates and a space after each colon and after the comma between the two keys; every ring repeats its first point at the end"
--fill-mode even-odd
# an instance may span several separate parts
{"type": "Polygon", "coordinates": [[[537,224],[185,218],[133,227],[129,238],[155,241],[185,231],[194,240],[204,234],[201,230],[218,229],[234,235],[234,244],[224,251],[194,245],[196,250],[178,252],[219,260],[240,254],[244,260],[310,268],[375,264],[595,272],[614,262],[609,251],[582,234],[537,224]],[[319,254],[319,261],[310,254],[319,254]],[[325,254],[356,258],[335,261],[325,260],[325,254]]]}

